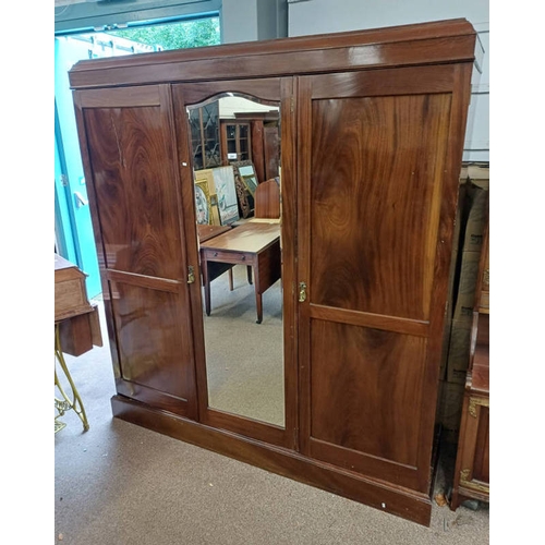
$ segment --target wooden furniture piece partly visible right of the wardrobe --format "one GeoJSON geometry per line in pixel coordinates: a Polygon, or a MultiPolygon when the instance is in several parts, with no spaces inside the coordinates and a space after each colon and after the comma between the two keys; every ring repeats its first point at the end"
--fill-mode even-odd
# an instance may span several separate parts
{"type": "Polygon", "coordinates": [[[485,229],[479,269],[462,420],[450,507],[467,499],[489,500],[489,244],[485,229]]]}

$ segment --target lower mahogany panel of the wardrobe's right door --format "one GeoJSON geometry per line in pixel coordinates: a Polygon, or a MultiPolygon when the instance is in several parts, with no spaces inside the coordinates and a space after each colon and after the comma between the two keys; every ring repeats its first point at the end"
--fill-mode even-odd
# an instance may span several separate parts
{"type": "Polygon", "coordinates": [[[313,320],[311,340],[312,437],[414,469],[425,339],[313,320]]]}

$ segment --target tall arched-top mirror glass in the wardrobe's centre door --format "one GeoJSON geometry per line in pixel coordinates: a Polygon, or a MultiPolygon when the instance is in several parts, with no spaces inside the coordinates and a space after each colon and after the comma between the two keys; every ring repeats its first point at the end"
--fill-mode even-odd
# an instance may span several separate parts
{"type": "Polygon", "coordinates": [[[279,106],[229,93],[187,113],[208,405],[284,427],[279,106]]]}

